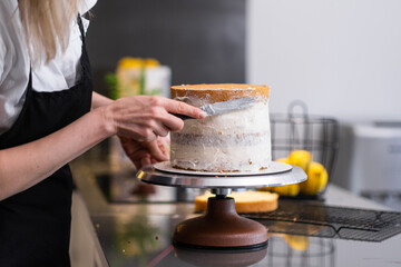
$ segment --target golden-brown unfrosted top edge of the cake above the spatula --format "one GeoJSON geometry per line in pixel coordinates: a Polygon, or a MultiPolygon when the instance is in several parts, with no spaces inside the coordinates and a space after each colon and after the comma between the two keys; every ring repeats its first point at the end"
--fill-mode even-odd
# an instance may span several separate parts
{"type": "Polygon", "coordinates": [[[173,99],[204,99],[208,103],[244,97],[253,97],[256,100],[266,101],[268,93],[268,86],[243,83],[182,85],[172,87],[173,99]]]}

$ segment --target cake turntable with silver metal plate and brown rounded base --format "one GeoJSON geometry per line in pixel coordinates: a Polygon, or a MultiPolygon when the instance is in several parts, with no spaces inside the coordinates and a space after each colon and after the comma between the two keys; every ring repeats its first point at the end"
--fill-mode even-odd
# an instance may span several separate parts
{"type": "Polygon", "coordinates": [[[216,197],[207,201],[206,212],[199,217],[179,222],[174,231],[173,243],[177,246],[212,249],[257,249],[266,246],[266,228],[235,211],[232,189],[275,187],[299,184],[306,180],[300,167],[273,161],[261,172],[184,171],[159,162],[143,167],[137,172],[141,181],[170,187],[212,189],[216,197]]]}

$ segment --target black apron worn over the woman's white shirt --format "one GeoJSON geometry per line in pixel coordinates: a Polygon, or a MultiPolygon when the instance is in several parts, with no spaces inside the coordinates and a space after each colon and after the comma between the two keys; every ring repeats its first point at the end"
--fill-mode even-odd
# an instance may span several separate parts
{"type": "MultiPolygon", "coordinates": [[[[67,90],[38,92],[32,90],[30,73],[23,108],[11,129],[0,136],[0,149],[48,136],[90,110],[91,76],[80,17],[78,24],[82,39],[80,81],[67,90]]],[[[0,201],[0,266],[70,266],[71,195],[72,176],[66,165],[0,201]]]]}

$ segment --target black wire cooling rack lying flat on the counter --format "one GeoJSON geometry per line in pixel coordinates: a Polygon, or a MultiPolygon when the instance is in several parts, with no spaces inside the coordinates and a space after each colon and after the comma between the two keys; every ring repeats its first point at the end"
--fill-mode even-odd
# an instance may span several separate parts
{"type": "Polygon", "coordinates": [[[244,214],[271,233],[382,241],[401,233],[401,212],[325,206],[316,201],[281,200],[271,212],[244,214]]]}

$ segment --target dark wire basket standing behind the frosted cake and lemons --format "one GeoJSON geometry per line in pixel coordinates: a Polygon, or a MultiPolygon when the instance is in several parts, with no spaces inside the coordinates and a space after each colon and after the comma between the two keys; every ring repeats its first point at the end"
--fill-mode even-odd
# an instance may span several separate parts
{"type": "Polygon", "coordinates": [[[310,116],[304,102],[293,101],[287,113],[271,115],[271,131],[273,160],[288,157],[293,150],[310,151],[331,180],[339,149],[339,123],[334,118],[310,116]]]}

